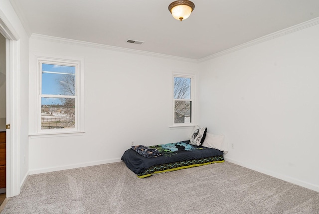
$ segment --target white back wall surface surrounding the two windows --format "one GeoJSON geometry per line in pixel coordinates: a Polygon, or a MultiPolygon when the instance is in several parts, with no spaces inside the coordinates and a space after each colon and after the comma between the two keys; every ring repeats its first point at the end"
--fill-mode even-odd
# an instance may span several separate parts
{"type": "MultiPolygon", "coordinates": [[[[195,74],[196,63],[34,36],[30,53],[30,115],[34,115],[36,103],[35,56],[84,59],[86,131],[81,136],[30,137],[31,174],[120,161],[133,140],[143,145],[178,142],[187,139],[192,130],[169,128],[172,72],[195,74]]],[[[34,119],[30,116],[33,127],[34,119]]]]}

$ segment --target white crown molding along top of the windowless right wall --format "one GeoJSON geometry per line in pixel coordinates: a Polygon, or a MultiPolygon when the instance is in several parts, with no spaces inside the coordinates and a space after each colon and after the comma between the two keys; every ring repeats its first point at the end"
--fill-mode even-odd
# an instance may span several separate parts
{"type": "Polygon", "coordinates": [[[262,42],[265,42],[265,41],[268,41],[268,40],[272,40],[272,39],[275,39],[275,38],[278,38],[278,37],[281,37],[281,36],[284,36],[284,35],[287,35],[287,34],[290,34],[290,33],[293,33],[293,32],[296,32],[296,31],[299,31],[299,30],[302,30],[302,29],[305,29],[305,28],[308,28],[308,27],[311,27],[314,25],[317,25],[317,24],[319,24],[319,17],[311,19],[309,21],[305,21],[305,22],[297,24],[297,25],[294,25],[292,27],[285,28],[283,30],[279,30],[277,32],[268,34],[266,36],[262,36],[260,38],[251,40],[249,42],[235,46],[233,48],[229,48],[227,50],[220,51],[218,53],[209,55],[207,57],[203,57],[203,58],[199,59],[198,62],[205,62],[207,60],[214,59],[214,58],[217,58],[217,57],[220,57],[220,56],[223,56],[223,55],[226,55],[226,54],[229,54],[229,53],[232,53],[232,52],[235,52],[235,51],[238,51],[238,50],[241,50],[241,49],[262,43],[262,42]]]}

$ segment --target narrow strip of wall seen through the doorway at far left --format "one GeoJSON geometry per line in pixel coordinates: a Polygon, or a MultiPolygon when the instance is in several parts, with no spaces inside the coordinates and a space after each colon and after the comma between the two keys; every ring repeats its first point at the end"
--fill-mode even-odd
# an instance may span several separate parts
{"type": "Polygon", "coordinates": [[[0,129],[5,129],[5,38],[0,34],[0,129]]]}

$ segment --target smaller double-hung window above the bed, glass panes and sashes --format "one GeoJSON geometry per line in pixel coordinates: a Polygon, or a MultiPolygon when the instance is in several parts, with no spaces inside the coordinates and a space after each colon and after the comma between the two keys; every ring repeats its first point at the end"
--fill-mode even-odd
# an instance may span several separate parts
{"type": "Polygon", "coordinates": [[[193,76],[173,75],[173,117],[174,124],[192,122],[193,76]]]}

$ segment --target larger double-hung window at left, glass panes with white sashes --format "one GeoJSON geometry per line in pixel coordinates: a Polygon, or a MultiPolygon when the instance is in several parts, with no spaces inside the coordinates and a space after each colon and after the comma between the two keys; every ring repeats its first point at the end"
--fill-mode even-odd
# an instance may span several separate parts
{"type": "Polygon", "coordinates": [[[79,130],[78,62],[39,60],[39,132],[79,130]]]}

